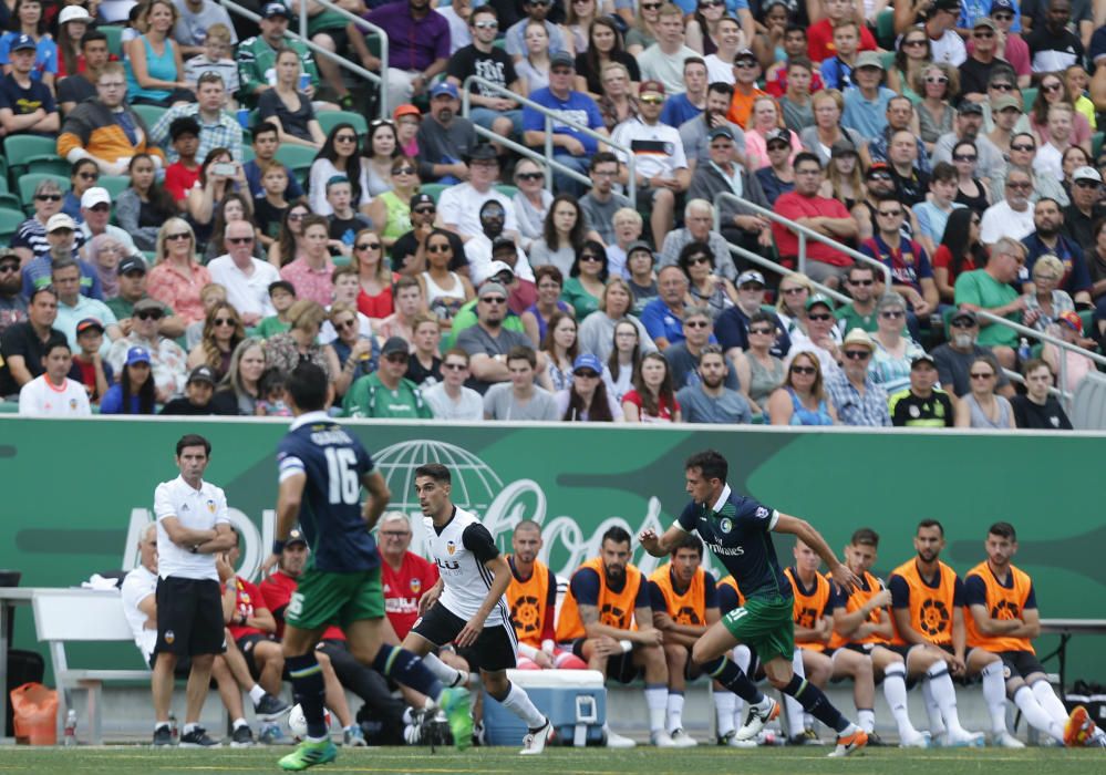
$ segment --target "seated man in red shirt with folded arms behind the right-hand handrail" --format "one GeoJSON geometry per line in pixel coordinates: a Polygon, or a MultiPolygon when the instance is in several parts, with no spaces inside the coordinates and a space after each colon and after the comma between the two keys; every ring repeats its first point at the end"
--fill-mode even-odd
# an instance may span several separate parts
{"type": "MultiPolygon", "coordinates": [[[[775,211],[830,239],[841,242],[855,240],[859,227],[845,205],[837,199],[818,196],[823,178],[818,157],[807,152],[796,154],[792,167],[795,170],[795,190],[776,199],[775,211]]],[[[772,224],[772,234],[783,262],[790,261],[789,266],[795,266],[798,236],[778,223],[772,224]]],[[[837,288],[841,269],[852,264],[852,259],[841,251],[814,239],[806,240],[806,257],[807,277],[829,288],[837,288]]]]}

